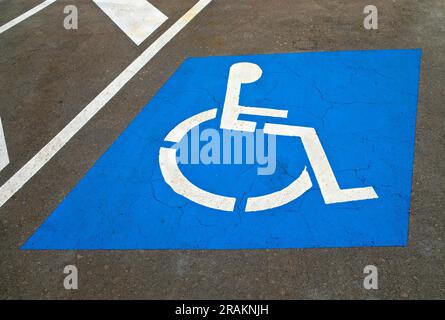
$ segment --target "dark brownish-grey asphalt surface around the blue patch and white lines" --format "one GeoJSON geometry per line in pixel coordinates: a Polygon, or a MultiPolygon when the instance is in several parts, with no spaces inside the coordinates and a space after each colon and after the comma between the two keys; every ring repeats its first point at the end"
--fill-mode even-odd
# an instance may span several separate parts
{"type": "MultiPolygon", "coordinates": [[[[0,0],[0,25],[40,3],[0,0]]],[[[141,46],[92,1],[59,0],[0,35],[6,182],[196,1],[152,0],[169,20],[141,46]],[[65,30],[63,8],[79,8],[65,30]]],[[[2,299],[445,298],[445,2],[214,0],[0,208],[2,299]],[[124,131],[185,58],[422,48],[409,245],[239,251],[24,251],[19,247],[124,131]],[[79,269],[79,289],[63,268],[79,269]],[[364,290],[363,268],[379,269],[364,290]]]]}

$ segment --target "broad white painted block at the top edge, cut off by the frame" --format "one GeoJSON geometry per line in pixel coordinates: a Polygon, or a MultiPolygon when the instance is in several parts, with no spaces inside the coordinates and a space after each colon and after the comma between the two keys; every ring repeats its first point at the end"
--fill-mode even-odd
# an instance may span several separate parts
{"type": "Polygon", "coordinates": [[[93,1],[136,45],[140,45],[168,19],[146,0],[93,1]]]}

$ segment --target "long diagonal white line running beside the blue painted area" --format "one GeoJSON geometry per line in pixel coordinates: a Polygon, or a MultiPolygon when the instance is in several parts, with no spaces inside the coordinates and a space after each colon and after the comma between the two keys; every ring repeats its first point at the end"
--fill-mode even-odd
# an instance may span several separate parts
{"type": "Polygon", "coordinates": [[[93,99],[65,128],[62,129],[31,160],[0,187],[0,207],[29,181],[63,146],[98,113],[125,84],[130,81],[150,60],[192,21],[212,0],[200,0],[185,15],[176,21],[116,79],[93,99]]]}

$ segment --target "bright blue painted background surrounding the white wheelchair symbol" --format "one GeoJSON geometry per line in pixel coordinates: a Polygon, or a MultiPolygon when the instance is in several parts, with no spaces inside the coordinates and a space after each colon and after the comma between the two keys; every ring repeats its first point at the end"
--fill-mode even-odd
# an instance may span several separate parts
{"type": "MultiPolygon", "coordinates": [[[[290,53],[187,59],[23,249],[250,249],[407,243],[420,50],[290,53]],[[242,105],[287,109],[267,122],[316,129],[341,188],[377,199],[325,204],[301,140],[277,136],[273,175],[257,165],[181,165],[188,180],[236,197],[233,212],[196,204],[163,179],[159,149],[183,120],[211,108],[218,127],[230,67],[260,80],[242,105]],[[248,197],[283,189],[307,166],[313,187],[281,207],[245,212],[248,197]]],[[[126,107],[126,106],[123,106],[126,107]]],[[[244,120],[265,119],[242,116],[244,120]]]]}

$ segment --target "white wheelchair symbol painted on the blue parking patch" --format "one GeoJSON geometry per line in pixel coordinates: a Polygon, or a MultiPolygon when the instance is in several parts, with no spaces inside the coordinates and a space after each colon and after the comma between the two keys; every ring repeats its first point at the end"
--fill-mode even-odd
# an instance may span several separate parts
{"type": "MultiPolygon", "coordinates": [[[[231,66],[221,116],[221,129],[254,132],[256,122],[238,120],[240,114],[287,118],[288,110],[239,105],[241,85],[258,81],[262,73],[262,69],[253,63],[241,62],[231,66]]],[[[217,108],[210,109],[184,120],[169,132],[165,141],[179,143],[194,127],[215,119],[217,111],[217,108]]],[[[314,128],[266,123],[263,130],[265,134],[301,139],[325,204],[378,198],[373,187],[340,188],[314,128]]],[[[197,204],[216,210],[234,211],[236,198],[207,192],[194,185],[182,174],[176,160],[176,151],[175,147],[161,147],[159,150],[159,165],[165,182],[176,193],[197,204]]],[[[248,198],[244,210],[255,212],[283,206],[303,195],[311,187],[312,181],[307,167],[305,167],[300,176],[284,189],[267,195],[248,198]]]]}

